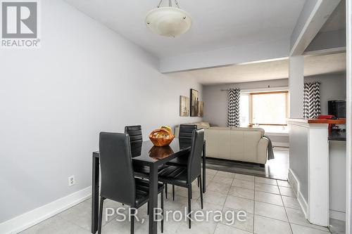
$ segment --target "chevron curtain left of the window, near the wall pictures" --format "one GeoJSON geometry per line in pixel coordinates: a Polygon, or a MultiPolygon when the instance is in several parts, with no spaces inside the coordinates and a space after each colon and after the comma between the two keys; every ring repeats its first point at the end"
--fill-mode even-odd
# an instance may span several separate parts
{"type": "Polygon", "coordinates": [[[240,89],[229,89],[229,104],[227,112],[227,126],[239,126],[239,98],[240,89]]]}

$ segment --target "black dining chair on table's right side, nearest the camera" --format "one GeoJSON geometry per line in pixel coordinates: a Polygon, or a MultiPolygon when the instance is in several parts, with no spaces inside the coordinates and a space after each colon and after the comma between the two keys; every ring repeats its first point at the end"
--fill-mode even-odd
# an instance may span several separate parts
{"type": "Polygon", "coordinates": [[[191,228],[191,185],[199,178],[201,195],[201,209],[203,209],[203,189],[201,183],[201,153],[203,150],[204,130],[194,130],[191,137],[191,152],[188,157],[187,167],[168,166],[158,173],[158,180],[180,186],[188,190],[189,228],[191,228]]]}

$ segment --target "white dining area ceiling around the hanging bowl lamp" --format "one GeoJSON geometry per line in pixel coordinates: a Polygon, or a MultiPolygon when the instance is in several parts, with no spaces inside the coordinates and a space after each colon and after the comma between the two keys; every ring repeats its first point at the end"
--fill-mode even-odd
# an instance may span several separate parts
{"type": "MultiPolygon", "coordinates": [[[[179,0],[193,20],[176,38],[161,37],[144,25],[159,0],[65,0],[159,58],[184,53],[287,39],[306,0],[179,0]]],[[[168,0],[164,0],[167,4],[168,0]]]]}

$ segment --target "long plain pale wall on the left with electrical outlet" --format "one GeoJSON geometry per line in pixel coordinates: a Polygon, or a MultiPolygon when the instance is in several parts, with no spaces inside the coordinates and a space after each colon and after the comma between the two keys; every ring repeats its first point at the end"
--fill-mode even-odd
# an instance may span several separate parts
{"type": "Polygon", "coordinates": [[[90,186],[99,131],[197,122],[179,96],[202,86],[158,72],[141,48],[64,1],[41,1],[42,48],[0,51],[0,223],[90,186]],[[77,185],[68,187],[68,176],[77,185]]]}

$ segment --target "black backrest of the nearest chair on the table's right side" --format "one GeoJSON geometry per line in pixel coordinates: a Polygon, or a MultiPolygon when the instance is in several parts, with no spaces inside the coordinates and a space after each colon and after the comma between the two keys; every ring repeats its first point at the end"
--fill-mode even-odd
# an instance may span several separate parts
{"type": "Polygon", "coordinates": [[[201,174],[201,152],[203,151],[204,129],[194,130],[192,134],[191,153],[188,157],[189,181],[194,181],[201,174]]]}

